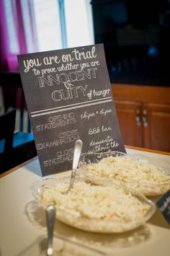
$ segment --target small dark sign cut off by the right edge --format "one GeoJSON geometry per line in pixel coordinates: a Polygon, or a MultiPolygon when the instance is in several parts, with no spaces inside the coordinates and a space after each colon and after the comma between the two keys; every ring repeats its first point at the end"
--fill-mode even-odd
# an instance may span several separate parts
{"type": "Polygon", "coordinates": [[[156,205],[164,219],[170,224],[170,190],[156,202],[156,205]]]}

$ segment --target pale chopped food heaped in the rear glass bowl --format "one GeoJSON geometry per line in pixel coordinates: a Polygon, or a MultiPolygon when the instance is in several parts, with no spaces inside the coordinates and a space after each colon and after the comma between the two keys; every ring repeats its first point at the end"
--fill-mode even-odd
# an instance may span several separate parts
{"type": "Polygon", "coordinates": [[[120,181],[144,195],[161,195],[170,189],[170,177],[148,160],[134,161],[130,156],[108,156],[85,167],[101,177],[120,181]]]}

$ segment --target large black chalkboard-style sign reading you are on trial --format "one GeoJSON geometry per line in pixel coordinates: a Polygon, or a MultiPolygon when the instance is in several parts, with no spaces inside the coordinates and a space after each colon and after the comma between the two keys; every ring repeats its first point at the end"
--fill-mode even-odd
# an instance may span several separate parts
{"type": "Polygon", "coordinates": [[[79,138],[83,152],[125,152],[102,44],[18,61],[42,175],[71,169],[79,138]]]}

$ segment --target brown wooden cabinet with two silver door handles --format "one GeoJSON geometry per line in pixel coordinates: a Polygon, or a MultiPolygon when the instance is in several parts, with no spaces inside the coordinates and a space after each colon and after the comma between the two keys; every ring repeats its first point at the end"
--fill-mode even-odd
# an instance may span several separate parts
{"type": "Polygon", "coordinates": [[[170,87],[112,84],[125,145],[170,151],[170,87]]]}

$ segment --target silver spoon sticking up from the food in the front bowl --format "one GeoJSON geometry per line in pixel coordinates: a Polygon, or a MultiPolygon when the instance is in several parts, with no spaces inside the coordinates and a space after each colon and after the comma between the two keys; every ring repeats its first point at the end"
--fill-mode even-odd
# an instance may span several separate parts
{"type": "Polygon", "coordinates": [[[74,144],[74,149],[73,149],[73,165],[72,165],[72,171],[71,171],[71,180],[70,180],[70,185],[68,187],[68,190],[64,193],[68,193],[72,188],[73,188],[73,182],[75,180],[76,176],[76,169],[79,164],[79,158],[81,155],[81,149],[83,146],[83,142],[81,140],[77,140],[74,144]]]}

